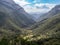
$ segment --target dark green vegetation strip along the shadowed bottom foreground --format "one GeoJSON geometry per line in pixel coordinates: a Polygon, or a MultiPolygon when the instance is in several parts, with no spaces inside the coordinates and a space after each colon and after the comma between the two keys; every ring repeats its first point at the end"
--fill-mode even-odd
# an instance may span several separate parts
{"type": "Polygon", "coordinates": [[[27,41],[20,36],[15,36],[14,38],[3,37],[0,41],[0,45],[60,45],[60,39],[47,38],[37,41],[27,41]]]}

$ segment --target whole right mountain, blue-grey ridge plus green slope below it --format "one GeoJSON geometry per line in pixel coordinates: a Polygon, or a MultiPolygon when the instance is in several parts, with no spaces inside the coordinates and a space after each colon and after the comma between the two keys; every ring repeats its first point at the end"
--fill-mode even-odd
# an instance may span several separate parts
{"type": "MultiPolygon", "coordinates": [[[[34,35],[45,38],[60,38],[60,5],[55,6],[45,15],[47,19],[38,22],[38,27],[33,29],[34,35]]],[[[44,18],[44,17],[43,17],[44,18]]]]}

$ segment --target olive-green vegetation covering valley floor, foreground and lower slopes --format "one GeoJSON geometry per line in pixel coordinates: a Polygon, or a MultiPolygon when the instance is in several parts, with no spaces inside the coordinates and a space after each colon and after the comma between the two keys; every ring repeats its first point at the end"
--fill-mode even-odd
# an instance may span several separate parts
{"type": "Polygon", "coordinates": [[[32,26],[38,26],[34,29],[19,28],[8,22],[9,26],[0,28],[0,45],[60,45],[60,14],[32,26]]]}

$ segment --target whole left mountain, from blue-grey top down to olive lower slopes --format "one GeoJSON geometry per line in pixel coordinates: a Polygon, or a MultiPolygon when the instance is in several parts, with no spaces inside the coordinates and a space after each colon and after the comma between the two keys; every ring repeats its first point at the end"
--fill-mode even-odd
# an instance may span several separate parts
{"type": "Polygon", "coordinates": [[[0,34],[1,36],[21,33],[35,21],[13,0],[0,0],[0,34]]]}

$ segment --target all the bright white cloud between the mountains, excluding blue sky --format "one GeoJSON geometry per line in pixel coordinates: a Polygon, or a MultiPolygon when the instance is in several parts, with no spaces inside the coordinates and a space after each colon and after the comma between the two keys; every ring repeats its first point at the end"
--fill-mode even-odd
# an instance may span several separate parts
{"type": "MultiPolygon", "coordinates": [[[[28,13],[36,13],[36,12],[40,12],[40,13],[44,13],[44,12],[48,12],[49,10],[51,10],[56,4],[48,4],[48,3],[35,3],[33,6],[29,5],[31,3],[26,2],[25,0],[14,0],[17,4],[19,4],[20,6],[22,6],[26,12],[28,13]],[[45,5],[46,7],[48,7],[49,9],[45,9],[45,8],[36,8],[36,6],[38,7],[42,7],[43,5],[45,5]]],[[[36,0],[35,0],[36,1],[36,0]]],[[[35,2],[34,1],[34,2],[35,2]]]]}

